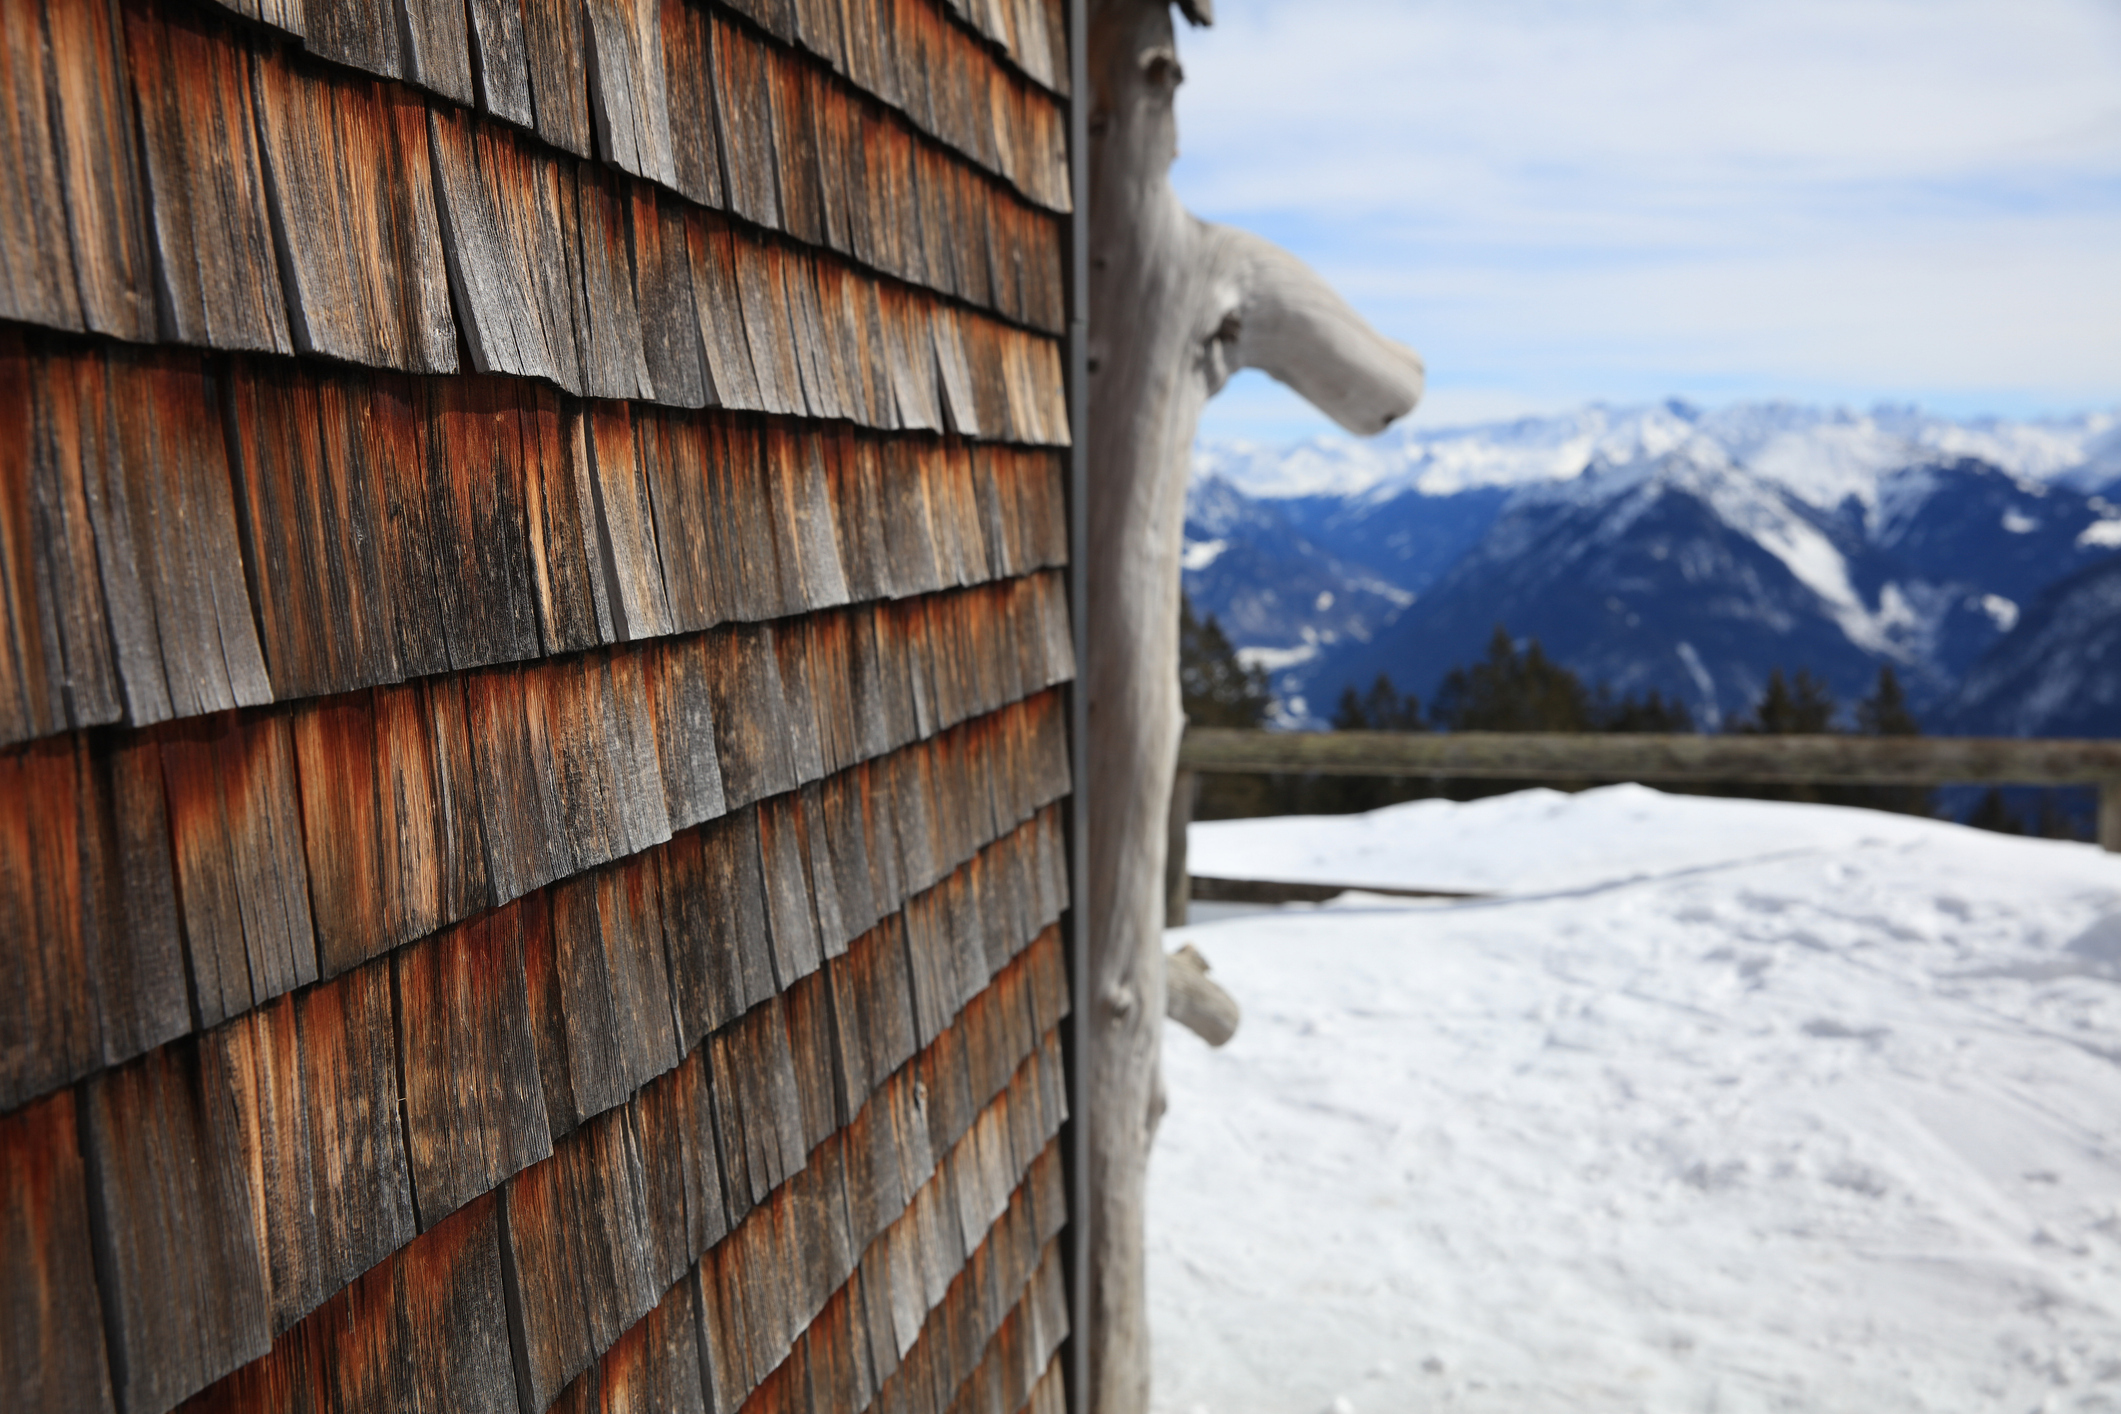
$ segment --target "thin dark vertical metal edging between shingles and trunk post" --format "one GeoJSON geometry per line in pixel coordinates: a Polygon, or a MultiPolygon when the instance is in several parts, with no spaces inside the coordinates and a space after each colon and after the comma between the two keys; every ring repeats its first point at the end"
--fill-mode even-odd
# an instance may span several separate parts
{"type": "Polygon", "coordinates": [[[1060,1128],[1060,1155],[1067,1168],[1067,1242],[1063,1244],[1063,1266],[1067,1272],[1067,1314],[1069,1340],[1063,1372],[1067,1380],[1069,1414],[1084,1414],[1090,1408],[1090,1153],[1084,1143],[1084,1124],[1090,1115],[1084,1094],[1084,1058],[1090,1047],[1090,948],[1088,914],[1090,899],[1084,886],[1088,863],[1084,797],[1088,793],[1088,727],[1090,700],[1084,674],[1090,657],[1084,642],[1088,623],[1088,581],[1084,577],[1084,553],[1090,538],[1086,505],[1086,473],[1090,462],[1090,61],[1088,61],[1088,8],[1090,0],[1067,0],[1067,174],[1073,197],[1067,223],[1067,416],[1069,416],[1069,458],[1067,458],[1067,602],[1069,623],[1075,636],[1075,681],[1067,689],[1069,765],[1073,770],[1073,793],[1067,803],[1067,859],[1069,859],[1069,914],[1063,931],[1067,948],[1069,979],[1069,1024],[1063,1035],[1063,1060],[1067,1066],[1067,1109],[1069,1121],[1060,1128]]]}

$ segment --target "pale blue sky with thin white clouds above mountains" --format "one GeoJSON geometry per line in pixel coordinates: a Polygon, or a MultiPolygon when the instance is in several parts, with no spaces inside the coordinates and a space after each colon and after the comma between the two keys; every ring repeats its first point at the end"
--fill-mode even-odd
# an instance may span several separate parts
{"type": "MultiPolygon", "coordinates": [[[[2121,0],[1215,8],[1173,182],[1421,350],[1421,422],[2121,405],[2121,0]]],[[[1203,420],[1328,426],[1258,373],[1203,420]]]]}

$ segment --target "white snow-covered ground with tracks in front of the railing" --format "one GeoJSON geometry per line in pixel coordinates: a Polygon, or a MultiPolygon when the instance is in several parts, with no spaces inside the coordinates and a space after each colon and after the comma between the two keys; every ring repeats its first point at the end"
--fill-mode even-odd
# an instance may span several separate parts
{"type": "Polygon", "coordinates": [[[2121,1410],[2121,856],[1642,786],[1190,850],[1497,897],[1167,937],[1245,1022],[1167,1032],[1158,1410],[2121,1410]]]}

